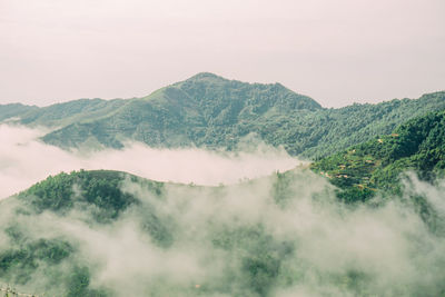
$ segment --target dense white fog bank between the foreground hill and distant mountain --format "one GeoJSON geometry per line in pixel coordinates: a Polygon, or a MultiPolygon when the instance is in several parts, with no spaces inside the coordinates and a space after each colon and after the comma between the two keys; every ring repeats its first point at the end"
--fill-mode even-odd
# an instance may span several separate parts
{"type": "Polygon", "coordinates": [[[0,125],[0,198],[24,190],[49,175],[81,168],[121,170],[159,181],[217,186],[286,171],[301,164],[284,149],[258,140],[245,143],[248,152],[237,154],[197,148],[154,149],[140,142],[129,142],[122,150],[87,154],[68,152],[39,141],[44,132],[44,129],[0,125]]]}

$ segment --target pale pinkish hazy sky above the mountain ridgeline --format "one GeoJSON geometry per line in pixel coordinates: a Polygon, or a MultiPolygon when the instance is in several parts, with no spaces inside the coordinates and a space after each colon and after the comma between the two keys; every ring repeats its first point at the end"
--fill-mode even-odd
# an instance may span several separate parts
{"type": "Polygon", "coordinates": [[[0,103],[131,98],[209,71],[325,107],[445,89],[444,0],[0,0],[0,103]]]}

